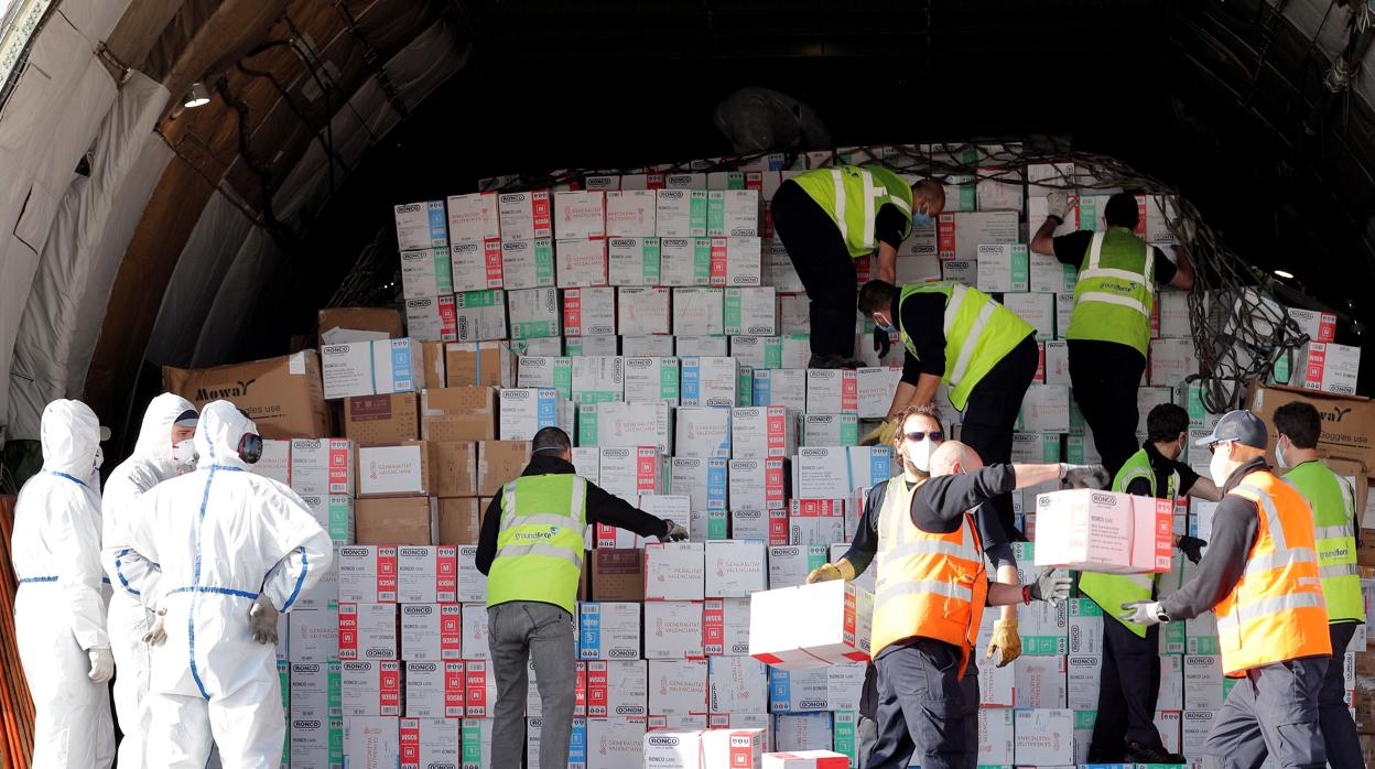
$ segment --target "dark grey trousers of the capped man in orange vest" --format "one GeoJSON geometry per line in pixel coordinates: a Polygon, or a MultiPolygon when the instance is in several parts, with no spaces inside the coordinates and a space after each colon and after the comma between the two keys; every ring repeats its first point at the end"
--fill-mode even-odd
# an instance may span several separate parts
{"type": "Polygon", "coordinates": [[[1317,702],[1328,660],[1309,656],[1247,670],[1217,711],[1204,766],[1260,769],[1266,757],[1286,769],[1327,766],[1317,702]]]}

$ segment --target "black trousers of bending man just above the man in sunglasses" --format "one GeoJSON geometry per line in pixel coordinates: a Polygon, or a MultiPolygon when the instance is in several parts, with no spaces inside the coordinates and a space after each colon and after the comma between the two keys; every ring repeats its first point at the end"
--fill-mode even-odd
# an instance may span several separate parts
{"type": "MultiPolygon", "coordinates": [[[[1040,359],[1035,334],[1027,334],[969,391],[969,400],[964,404],[960,440],[978,451],[984,465],[1012,461],[1012,433],[1018,424],[1018,411],[1022,410],[1022,399],[1035,378],[1040,359]]],[[[1133,406],[1133,414],[1134,409],[1133,406]]],[[[986,503],[998,513],[1002,531],[1008,537],[1022,539],[1015,526],[1012,495],[998,494],[986,503]]]]}

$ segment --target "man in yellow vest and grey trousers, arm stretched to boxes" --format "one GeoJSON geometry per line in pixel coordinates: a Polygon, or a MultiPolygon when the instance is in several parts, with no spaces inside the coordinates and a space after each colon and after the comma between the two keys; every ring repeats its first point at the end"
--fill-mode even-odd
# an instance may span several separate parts
{"type": "MultiPolygon", "coordinates": [[[[487,575],[488,645],[496,678],[492,769],[518,769],[525,741],[525,696],[534,660],[543,703],[542,769],[568,766],[573,733],[578,656],[573,603],[583,568],[584,532],[602,523],[664,542],[688,538],[573,475],[572,443],[558,428],[535,433],[534,457],[518,479],[487,506],[477,539],[477,570],[487,575]]],[[[531,761],[534,763],[534,761],[531,761]]]]}

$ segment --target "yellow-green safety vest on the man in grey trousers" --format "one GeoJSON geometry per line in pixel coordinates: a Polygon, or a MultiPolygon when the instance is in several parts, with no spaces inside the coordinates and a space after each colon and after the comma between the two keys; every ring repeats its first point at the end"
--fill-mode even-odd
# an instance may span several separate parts
{"type": "Polygon", "coordinates": [[[554,604],[573,614],[582,576],[587,481],[575,475],[522,476],[502,487],[496,557],[487,605],[554,604]]]}

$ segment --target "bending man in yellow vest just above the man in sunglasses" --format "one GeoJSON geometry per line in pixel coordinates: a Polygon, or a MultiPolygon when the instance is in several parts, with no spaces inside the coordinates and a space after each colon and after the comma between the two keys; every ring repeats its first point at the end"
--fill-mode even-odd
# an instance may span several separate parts
{"type": "MultiPolygon", "coordinates": [[[[890,443],[896,414],[908,406],[935,400],[943,381],[950,403],[962,413],[961,437],[982,461],[1012,461],[1012,433],[1041,358],[1035,329],[989,294],[939,281],[896,286],[869,281],[859,292],[859,311],[880,329],[896,330],[906,354],[902,381],[888,406],[888,418],[865,440],[890,443]]],[[[1022,539],[1012,495],[990,502],[1002,531],[1022,539]]]]}

